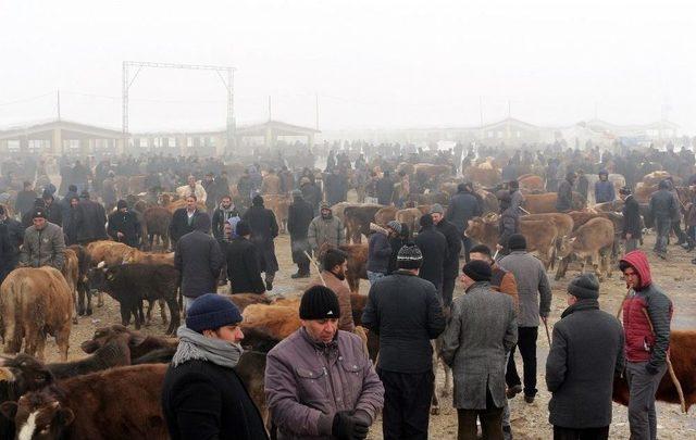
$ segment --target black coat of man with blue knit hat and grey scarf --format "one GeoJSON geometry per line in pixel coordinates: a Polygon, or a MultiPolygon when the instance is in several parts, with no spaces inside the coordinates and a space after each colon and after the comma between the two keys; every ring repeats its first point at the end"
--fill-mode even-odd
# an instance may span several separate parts
{"type": "Polygon", "coordinates": [[[170,365],[161,404],[172,440],[269,438],[259,410],[233,368],[202,360],[170,365]]]}

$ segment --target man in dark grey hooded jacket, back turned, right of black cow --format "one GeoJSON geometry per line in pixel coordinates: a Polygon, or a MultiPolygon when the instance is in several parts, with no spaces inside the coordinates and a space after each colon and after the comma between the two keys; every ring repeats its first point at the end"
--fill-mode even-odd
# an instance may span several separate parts
{"type": "Polygon", "coordinates": [[[176,242],[174,251],[174,267],[182,274],[184,310],[201,294],[216,291],[223,264],[220,244],[210,236],[210,217],[200,213],[195,218],[194,230],[176,242]]]}

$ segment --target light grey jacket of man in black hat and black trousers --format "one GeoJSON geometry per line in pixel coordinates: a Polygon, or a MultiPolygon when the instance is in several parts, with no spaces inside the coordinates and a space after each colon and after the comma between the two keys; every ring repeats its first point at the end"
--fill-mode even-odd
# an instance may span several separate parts
{"type": "Polygon", "coordinates": [[[548,316],[551,310],[551,288],[544,265],[526,251],[513,251],[502,257],[498,266],[511,272],[518,284],[520,300],[518,325],[538,327],[539,316],[548,316]]]}

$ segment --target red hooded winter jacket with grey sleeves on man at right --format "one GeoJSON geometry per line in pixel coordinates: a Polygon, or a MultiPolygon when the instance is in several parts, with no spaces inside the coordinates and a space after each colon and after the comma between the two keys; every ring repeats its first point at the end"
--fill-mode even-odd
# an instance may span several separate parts
{"type": "Polygon", "coordinates": [[[641,287],[631,289],[623,302],[626,360],[647,361],[657,370],[667,362],[670,348],[672,301],[652,282],[650,266],[643,252],[629,252],[621,261],[633,266],[641,277],[641,287]]]}

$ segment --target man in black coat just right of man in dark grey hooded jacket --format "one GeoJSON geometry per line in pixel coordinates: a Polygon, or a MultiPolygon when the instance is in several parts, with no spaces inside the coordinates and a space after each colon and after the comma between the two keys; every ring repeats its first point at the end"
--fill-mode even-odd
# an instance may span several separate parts
{"type": "Polygon", "coordinates": [[[237,222],[236,237],[227,244],[227,277],[231,293],[263,293],[265,287],[259,269],[257,248],[249,237],[251,228],[245,221],[237,222]]]}

